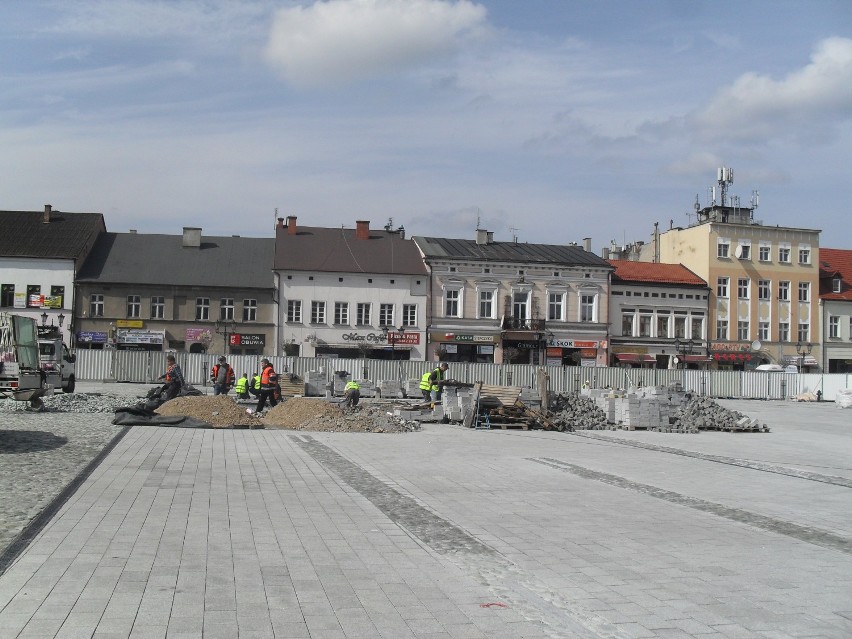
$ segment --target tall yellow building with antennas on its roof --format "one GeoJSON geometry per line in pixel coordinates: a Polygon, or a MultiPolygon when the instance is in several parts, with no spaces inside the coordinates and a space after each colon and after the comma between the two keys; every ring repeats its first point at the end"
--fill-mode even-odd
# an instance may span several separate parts
{"type": "MultiPolygon", "coordinates": [[[[724,202],[724,199],[723,199],[724,202]]],[[[766,226],[753,208],[711,205],[655,233],[643,261],[680,263],[710,286],[707,336],[721,367],[820,361],[819,234],[766,226]]]]}

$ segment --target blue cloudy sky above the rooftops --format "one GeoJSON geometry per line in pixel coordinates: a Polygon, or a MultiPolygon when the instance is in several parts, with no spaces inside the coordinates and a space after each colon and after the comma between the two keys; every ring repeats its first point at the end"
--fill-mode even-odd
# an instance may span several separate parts
{"type": "Polygon", "coordinates": [[[0,209],[600,247],[720,166],[852,248],[849,0],[0,3],[0,209]]]}

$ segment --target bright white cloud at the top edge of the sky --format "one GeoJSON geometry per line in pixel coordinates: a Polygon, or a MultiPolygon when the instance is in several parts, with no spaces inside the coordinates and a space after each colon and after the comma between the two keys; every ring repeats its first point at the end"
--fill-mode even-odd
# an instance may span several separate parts
{"type": "Polygon", "coordinates": [[[422,64],[485,28],[469,0],[328,0],[279,10],[266,57],[295,86],[329,86],[422,64]]]}

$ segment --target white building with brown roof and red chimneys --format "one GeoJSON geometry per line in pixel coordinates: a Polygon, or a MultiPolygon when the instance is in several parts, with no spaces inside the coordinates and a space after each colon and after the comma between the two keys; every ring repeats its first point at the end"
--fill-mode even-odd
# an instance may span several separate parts
{"type": "Polygon", "coordinates": [[[303,357],[415,359],[426,355],[428,278],[403,229],[299,226],[275,236],[279,339],[303,357]]]}

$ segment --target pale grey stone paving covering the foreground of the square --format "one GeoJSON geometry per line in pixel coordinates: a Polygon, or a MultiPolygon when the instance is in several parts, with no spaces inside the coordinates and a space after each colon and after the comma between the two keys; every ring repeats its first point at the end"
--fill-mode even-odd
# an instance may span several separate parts
{"type": "Polygon", "coordinates": [[[720,404],[771,432],[126,428],[0,638],[852,636],[852,409],[720,404]]]}

